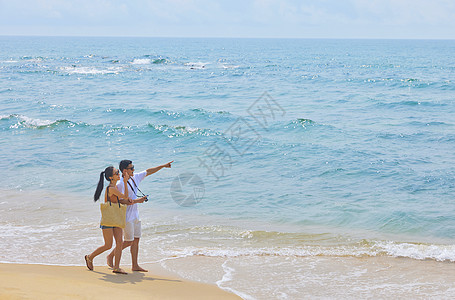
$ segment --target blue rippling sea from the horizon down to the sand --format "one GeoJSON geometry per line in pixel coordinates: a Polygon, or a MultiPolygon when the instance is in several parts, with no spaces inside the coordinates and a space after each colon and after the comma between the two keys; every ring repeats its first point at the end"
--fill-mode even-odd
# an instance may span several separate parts
{"type": "MultiPolygon", "coordinates": [[[[102,243],[99,173],[130,159],[174,161],[141,183],[140,261],[245,299],[384,296],[380,277],[354,280],[365,259],[453,268],[453,53],[453,40],[0,37],[0,261],[84,265],[102,243]],[[309,286],[311,264],[337,289],[309,286]]],[[[435,296],[425,280],[418,296],[435,296]]]]}

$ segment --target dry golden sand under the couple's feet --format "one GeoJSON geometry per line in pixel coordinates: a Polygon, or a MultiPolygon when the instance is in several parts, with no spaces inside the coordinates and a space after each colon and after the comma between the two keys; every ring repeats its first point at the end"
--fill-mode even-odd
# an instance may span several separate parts
{"type": "MultiPolygon", "coordinates": [[[[148,266],[149,267],[149,266],[148,266]]],[[[0,299],[240,299],[165,271],[113,274],[108,267],[0,264],[0,299]]]]}

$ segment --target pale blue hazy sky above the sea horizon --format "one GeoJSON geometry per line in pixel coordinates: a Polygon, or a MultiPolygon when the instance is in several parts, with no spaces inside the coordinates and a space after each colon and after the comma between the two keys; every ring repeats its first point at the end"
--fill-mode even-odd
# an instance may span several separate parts
{"type": "Polygon", "coordinates": [[[455,39],[455,0],[0,0],[0,35],[455,39]]]}

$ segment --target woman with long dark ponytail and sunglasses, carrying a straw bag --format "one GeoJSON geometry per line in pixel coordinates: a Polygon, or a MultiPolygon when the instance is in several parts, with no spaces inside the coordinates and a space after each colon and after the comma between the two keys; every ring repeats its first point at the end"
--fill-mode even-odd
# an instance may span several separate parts
{"type": "MultiPolygon", "coordinates": [[[[128,189],[125,190],[125,194],[122,194],[117,190],[116,184],[117,181],[120,179],[119,171],[110,166],[107,167],[103,172],[100,174],[100,180],[98,181],[98,186],[95,191],[94,199],[97,201],[100,198],[101,192],[104,186],[104,178],[109,181],[109,186],[106,188],[106,192],[104,193],[104,201],[107,202],[108,199],[112,203],[123,203],[123,204],[133,204],[133,200],[128,198],[128,189]]],[[[126,186],[128,181],[128,174],[123,174],[123,180],[125,181],[124,184],[126,186]]],[[[112,247],[112,237],[115,238],[115,264],[114,264],[114,273],[118,274],[127,274],[124,270],[120,269],[120,258],[122,256],[122,244],[123,244],[123,230],[120,227],[110,227],[110,226],[100,226],[103,230],[103,237],[104,237],[104,245],[98,247],[95,251],[91,254],[85,256],[85,263],[89,270],[93,270],[93,259],[103,253],[111,249],[112,247]]]]}

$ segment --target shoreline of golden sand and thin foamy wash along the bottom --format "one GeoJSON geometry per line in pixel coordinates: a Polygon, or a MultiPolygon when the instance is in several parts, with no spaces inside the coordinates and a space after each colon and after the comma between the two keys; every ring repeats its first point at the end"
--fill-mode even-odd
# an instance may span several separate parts
{"type": "Polygon", "coordinates": [[[0,299],[453,298],[453,266],[387,256],[196,256],[144,263],[148,273],[124,265],[129,274],[118,275],[98,265],[0,263],[0,299]]]}

